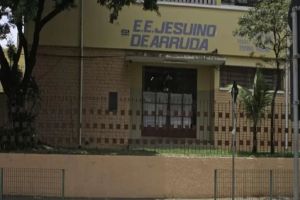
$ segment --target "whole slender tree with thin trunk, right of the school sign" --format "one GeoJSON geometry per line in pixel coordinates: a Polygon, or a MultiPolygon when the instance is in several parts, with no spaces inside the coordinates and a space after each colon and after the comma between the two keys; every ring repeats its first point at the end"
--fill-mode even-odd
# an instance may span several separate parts
{"type": "MultiPolygon", "coordinates": [[[[270,50],[275,63],[276,83],[274,85],[271,101],[271,153],[274,153],[274,110],[275,99],[281,85],[281,66],[285,62],[285,53],[288,48],[288,39],[291,35],[288,27],[288,10],[290,0],[263,0],[242,16],[238,21],[238,29],[234,35],[246,37],[256,47],[270,50]]],[[[266,61],[266,59],[264,59],[266,61]]]]}

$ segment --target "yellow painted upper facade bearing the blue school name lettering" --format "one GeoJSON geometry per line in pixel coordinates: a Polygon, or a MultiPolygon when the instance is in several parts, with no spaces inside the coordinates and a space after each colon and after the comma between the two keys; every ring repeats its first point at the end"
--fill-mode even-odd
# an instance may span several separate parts
{"type": "MultiPolygon", "coordinates": [[[[125,7],[114,23],[96,1],[83,1],[84,47],[134,49],[236,57],[272,57],[250,41],[234,37],[245,9],[216,6],[159,5],[159,13],[143,11],[141,5],[125,7]]],[[[80,6],[60,14],[45,27],[42,45],[80,44],[80,6]]],[[[231,59],[235,60],[235,58],[231,59]]],[[[250,59],[252,60],[252,59],[250,59]]],[[[247,62],[247,61],[246,61],[247,62]]],[[[249,61],[248,61],[249,62],[249,61]]],[[[249,63],[255,66],[253,63],[249,63]]]]}

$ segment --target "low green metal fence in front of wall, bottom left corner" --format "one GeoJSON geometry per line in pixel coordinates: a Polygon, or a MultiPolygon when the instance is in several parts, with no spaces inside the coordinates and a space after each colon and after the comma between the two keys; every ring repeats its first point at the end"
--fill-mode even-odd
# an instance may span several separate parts
{"type": "Polygon", "coordinates": [[[0,168],[0,200],[64,199],[63,169],[0,168]]]}

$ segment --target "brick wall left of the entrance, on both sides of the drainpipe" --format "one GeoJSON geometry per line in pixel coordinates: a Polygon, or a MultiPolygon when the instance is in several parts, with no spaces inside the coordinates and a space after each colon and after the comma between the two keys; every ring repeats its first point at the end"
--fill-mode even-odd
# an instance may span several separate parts
{"type": "MultiPolygon", "coordinates": [[[[83,145],[123,144],[128,135],[129,85],[122,51],[85,49],[83,145]],[[118,112],[108,112],[109,92],[118,93],[118,112]]],[[[34,75],[42,91],[38,133],[51,145],[76,146],[79,129],[78,48],[40,47],[34,75]]]]}

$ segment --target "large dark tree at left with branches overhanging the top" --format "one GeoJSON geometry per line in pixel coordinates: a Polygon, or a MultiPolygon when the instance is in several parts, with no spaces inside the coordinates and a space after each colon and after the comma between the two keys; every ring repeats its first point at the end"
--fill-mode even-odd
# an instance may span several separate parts
{"type": "MultiPolygon", "coordinates": [[[[82,0],[85,1],[85,0],[82,0]]],[[[157,0],[145,0],[145,10],[156,10],[157,0]]],[[[40,42],[40,32],[60,13],[74,8],[75,0],[1,0],[0,20],[6,18],[5,23],[0,24],[0,39],[6,39],[10,28],[15,27],[18,31],[17,46],[8,46],[8,56],[0,46],[0,82],[8,97],[8,114],[10,119],[9,131],[3,138],[14,138],[13,143],[1,143],[6,148],[25,148],[33,146],[33,142],[24,143],[24,138],[29,141],[35,140],[34,121],[39,111],[40,93],[38,85],[32,76],[36,65],[37,49],[40,42]],[[52,9],[45,10],[46,2],[52,2],[52,9]],[[24,34],[25,25],[31,22],[32,35],[24,34]],[[28,38],[31,42],[28,43],[28,38]],[[19,60],[24,54],[25,71],[21,73],[19,60]],[[8,147],[9,146],[9,147],[8,147]]],[[[136,0],[97,0],[99,5],[106,6],[110,10],[110,21],[118,17],[118,13],[124,6],[136,3],[136,0]]],[[[0,131],[1,132],[1,131],[0,131]]],[[[1,139],[0,133],[0,139],[1,139]]],[[[8,140],[6,140],[8,141],[8,140]]],[[[0,147],[1,148],[1,147],[0,147]]],[[[5,148],[5,147],[2,147],[5,148]]]]}

